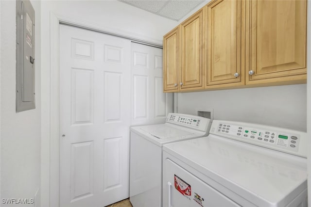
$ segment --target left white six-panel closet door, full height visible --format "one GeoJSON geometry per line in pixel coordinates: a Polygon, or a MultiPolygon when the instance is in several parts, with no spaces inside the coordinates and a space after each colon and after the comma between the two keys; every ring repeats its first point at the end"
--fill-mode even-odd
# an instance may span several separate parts
{"type": "Polygon", "coordinates": [[[60,206],[129,196],[131,41],[60,25],[60,206]]]}

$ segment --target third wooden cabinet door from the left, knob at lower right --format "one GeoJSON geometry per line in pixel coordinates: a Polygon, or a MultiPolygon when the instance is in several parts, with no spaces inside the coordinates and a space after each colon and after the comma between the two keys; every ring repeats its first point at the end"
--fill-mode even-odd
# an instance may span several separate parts
{"type": "Polygon", "coordinates": [[[218,0],[207,5],[207,88],[244,85],[242,17],[240,0],[218,0]]]}

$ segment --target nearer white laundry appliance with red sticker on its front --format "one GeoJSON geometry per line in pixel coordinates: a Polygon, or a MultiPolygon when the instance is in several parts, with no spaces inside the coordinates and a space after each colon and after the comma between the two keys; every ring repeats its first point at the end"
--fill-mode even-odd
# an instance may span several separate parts
{"type": "Polygon", "coordinates": [[[214,120],[163,146],[163,207],[307,207],[305,132],[214,120]]]}

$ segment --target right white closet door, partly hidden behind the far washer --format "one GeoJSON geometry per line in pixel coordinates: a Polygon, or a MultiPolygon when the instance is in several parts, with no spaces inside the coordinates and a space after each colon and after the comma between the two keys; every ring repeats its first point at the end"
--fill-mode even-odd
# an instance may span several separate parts
{"type": "Polygon", "coordinates": [[[132,43],[131,50],[131,124],[162,124],[173,112],[173,94],[163,93],[162,49],[132,43]]]}

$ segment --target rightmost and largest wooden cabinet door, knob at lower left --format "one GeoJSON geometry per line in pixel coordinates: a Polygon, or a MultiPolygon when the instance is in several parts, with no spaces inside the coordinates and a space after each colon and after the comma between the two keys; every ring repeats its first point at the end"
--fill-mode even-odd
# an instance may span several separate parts
{"type": "Polygon", "coordinates": [[[246,2],[246,84],[305,81],[307,1],[246,2]]]}

